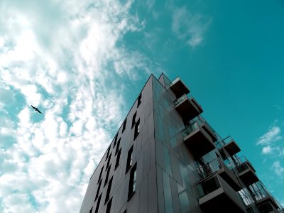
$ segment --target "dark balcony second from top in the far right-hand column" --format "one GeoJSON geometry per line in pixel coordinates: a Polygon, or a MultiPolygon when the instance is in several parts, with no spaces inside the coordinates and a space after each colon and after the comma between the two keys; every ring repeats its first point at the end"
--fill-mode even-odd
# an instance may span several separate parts
{"type": "Polygon", "coordinates": [[[254,182],[258,181],[256,176],[256,170],[244,156],[238,158],[239,165],[236,166],[236,169],[239,171],[239,178],[244,182],[245,185],[251,185],[254,182]]]}

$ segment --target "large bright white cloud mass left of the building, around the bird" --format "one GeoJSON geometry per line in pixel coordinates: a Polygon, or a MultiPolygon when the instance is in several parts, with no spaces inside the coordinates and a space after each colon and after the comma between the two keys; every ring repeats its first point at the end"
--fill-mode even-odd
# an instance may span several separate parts
{"type": "Polygon", "coordinates": [[[123,81],[150,70],[119,42],[143,28],[131,4],[1,1],[0,212],[79,212],[123,120],[123,81]]]}

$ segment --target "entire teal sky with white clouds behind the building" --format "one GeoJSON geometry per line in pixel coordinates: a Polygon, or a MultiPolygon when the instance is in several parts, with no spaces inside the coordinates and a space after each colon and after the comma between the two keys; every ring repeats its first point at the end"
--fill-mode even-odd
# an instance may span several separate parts
{"type": "Polygon", "coordinates": [[[0,212],[79,212],[161,72],[182,78],[284,204],[283,26],[281,0],[1,0],[0,212]]]}

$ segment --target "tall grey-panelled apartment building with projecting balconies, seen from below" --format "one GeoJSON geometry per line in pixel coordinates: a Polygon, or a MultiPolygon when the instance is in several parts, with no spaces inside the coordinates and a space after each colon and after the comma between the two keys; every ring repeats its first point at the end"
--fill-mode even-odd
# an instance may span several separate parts
{"type": "Polygon", "coordinates": [[[89,180],[81,213],[282,212],[233,138],[176,78],[149,77],[89,180]]]}

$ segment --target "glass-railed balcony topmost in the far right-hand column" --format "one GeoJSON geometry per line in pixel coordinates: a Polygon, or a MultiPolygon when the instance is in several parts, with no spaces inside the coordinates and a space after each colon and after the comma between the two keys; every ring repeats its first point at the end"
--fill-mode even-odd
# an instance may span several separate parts
{"type": "Polygon", "coordinates": [[[238,144],[236,144],[233,138],[227,137],[221,141],[221,147],[219,148],[219,151],[222,155],[222,158],[226,159],[228,158],[228,155],[235,155],[236,153],[239,153],[241,149],[239,148],[238,144]]]}

